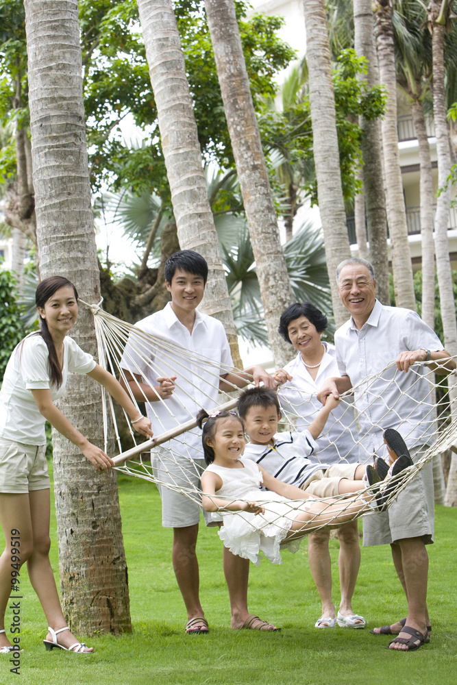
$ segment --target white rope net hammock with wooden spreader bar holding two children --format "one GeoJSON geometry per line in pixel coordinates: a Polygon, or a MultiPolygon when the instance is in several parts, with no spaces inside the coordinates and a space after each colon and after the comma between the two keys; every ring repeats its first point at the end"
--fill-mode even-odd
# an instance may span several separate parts
{"type": "MultiPolygon", "coordinates": [[[[108,451],[108,443],[112,438],[112,429],[114,427],[114,437],[119,449],[119,454],[114,456],[113,460],[116,464],[116,469],[122,473],[132,475],[137,478],[154,482],[159,486],[164,486],[170,490],[175,490],[177,493],[185,495],[195,503],[201,503],[201,490],[195,488],[192,482],[192,477],[195,479],[195,474],[200,475],[201,468],[195,463],[195,449],[201,449],[201,438],[199,431],[196,429],[195,416],[200,408],[211,412],[214,410],[214,396],[216,391],[219,391],[219,376],[226,372],[240,373],[239,370],[233,371],[232,367],[221,365],[219,361],[212,360],[208,357],[202,356],[198,353],[188,351],[175,345],[171,340],[154,336],[143,332],[137,325],[132,326],[116,319],[115,316],[103,312],[100,306],[88,305],[84,302],[92,313],[94,314],[95,332],[97,335],[97,346],[99,353],[99,364],[103,368],[110,371],[119,379],[125,381],[127,392],[134,403],[138,406],[136,399],[129,389],[129,384],[125,377],[125,371],[129,371],[134,377],[140,377],[141,382],[149,388],[153,388],[151,378],[164,376],[169,377],[176,375],[175,386],[179,392],[173,393],[173,402],[170,399],[164,401],[158,397],[157,401],[149,401],[142,393],[144,398],[147,414],[153,421],[154,438],[146,442],[138,444],[140,436],[135,435],[129,423],[128,417],[123,412],[123,416],[118,414],[116,416],[114,404],[108,393],[102,390],[103,393],[103,430],[105,451],[108,451]],[[199,377],[198,370],[204,370],[204,379],[199,377]],[[149,377],[149,379],[148,379],[149,377]],[[194,384],[193,379],[197,380],[194,384]],[[186,421],[177,419],[177,414],[180,417],[186,417],[186,421]],[[122,423],[128,426],[129,439],[132,441],[132,447],[121,445],[121,437],[119,434],[119,427],[122,423]],[[161,446],[165,445],[165,449],[161,446]],[[151,465],[152,453],[156,455],[160,461],[160,469],[153,472],[151,465]],[[193,458],[194,457],[194,458],[193,458]]],[[[375,375],[367,377],[361,384],[354,387],[350,393],[345,393],[341,397],[341,407],[338,406],[338,419],[328,422],[322,436],[327,436],[328,450],[334,451],[338,454],[340,462],[347,463],[357,461],[354,459],[354,449],[360,450],[360,453],[365,456],[367,463],[372,463],[373,449],[365,446],[364,440],[358,438],[358,427],[364,421],[364,413],[368,412],[369,421],[379,427],[398,427],[400,434],[410,447],[415,445],[430,445],[426,449],[421,459],[405,469],[398,476],[395,477],[395,488],[387,499],[387,505],[395,499],[399,493],[406,487],[406,485],[414,478],[417,473],[423,469],[425,464],[428,464],[436,454],[439,454],[446,449],[454,448],[457,444],[457,420],[452,419],[450,412],[450,405],[448,400],[449,391],[447,388],[446,377],[434,376],[434,373],[428,369],[426,364],[415,364],[408,371],[409,374],[414,375],[414,381],[409,385],[406,394],[410,401],[411,412],[408,415],[400,416],[397,413],[397,406],[400,398],[405,395],[402,389],[402,376],[404,372],[398,372],[395,369],[395,361],[390,362],[385,369],[375,375]],[[425,369],[421,367],[425,366],[425,369]],[[415,389],[417,384],[423,384],[423,378],[428,381],[430,386],[430,393],[425,400],[428,412],[425,421],[421,422],[420,427],[411,421],[410,416],[417,406],[415,389]],[[383,392],[380,394],[380,388],[393,388],[395,386],[395,397],[397,398],[393,403],[389,402],[389,393],[383,392]],[[354,405],[352,403],[351,395],[355,393],[362,393],[366,402],[362,412],[356,414],[354,405]],[[432,398],[436,397],[436,402],[432,398]],[[392,421],[386,425],[382,423],[386,419],[392,421]],[[347,431],[351,432],[354,438],[354,445],[352,454],[347,453],[342,449],[341,445],[345,443],[343,436],[347,437],[347,431]]],[[[245,378],[245,373],[243,373],[245,378]]],[[[456,383],[456,372],[453,372],[448,377],[449,385],[456,383]]],[[[139,382],[137,382],[140,388],[139,382]]],[[[239,393],[238,388],[233,386],[233,390],[239,393]]],[[[418,393],[418,396],[419,393],[418,393]]],[[[228,393],[219,393],[217,396],[217,408],[219,410],[230,410],[236,406],[236,397],[228,393]]],[[[421,394],[423,397],[423,393],[421,394]]],[[[286,388],[278,389],[278,398],[283,409],[284,414],[284,428],[294,430],[295,423],[302,421],[301,410],[306,403],[314,400],[315,397],[307,393],[301,393],[299,390],[287,390],[286,388]]],[[[421,402],[423,403],[423,402],[421,402]]],[[[331,414],[331,419],[333,416],[331,414]]],[[[310,423],[310,422],[309,422],[310,423]]],[[[381,444],[375,445],[375,450],[381,454],[381,444]]],[[[325,452],[322,456],[323,463],[327,464],[329,460],[325,459],[325,452]]],[[[203,453],[197,455],[200,463],[202,461],[203,453]]],[[[317,458],[321,455],[317,453],[317,458]]],[[[332,463],[334,463],[334,458],[332,463]]],[[[360,459],[364,461],[364,458],[360,459]]],[[[394,481],[391,481],[392,483],[394,481]]],[[[365,490],[367,497],[379,492],[378,486],[373,486],[365,490]]],[[[354,511],[354,501],[361,493],[354,496],[339,495],[338,500],[338,514],[341,512],[354,511]]],[[[364,495],[365,497],[365,495],[364,495]]],[[[236,498],[239,499],[239,498],[236,498]]],[[[371,497],[373,499],[373,497],[371,497]]],[[[264,501],[262,499],[262,501],[264,501]]],[[[267,500],[265,500],[267,503],[267,500]]],[[[319,514],[316,519],[314,530],[323,527],[324,525],[332,525],[334,521],[334,506],[330,505],[325,499],[319,500],[321,503],[327,503],[328,513],[319,514]]],[[[290,504],[291,511],[295,511],[302,505],[302,501],[292,501],[290,504]]],[[[326,510],[327,511],[327,510],[326,510]]],[[[352,518],[358,517],[360,514],[366,515],[373,512],[373,508],[365,508],[364,511],[357,511],[352,518]]],[[[278,519],[279,521],[279,519],[278,519]]],[[[279,524],[278,524],[279,525],[279,524]]],[[[309,525],[304,532],[293,534],[293,538],[304,536],[310,532],[309,525]]],[[[290,539],[290,538],[288,538],[290,539]]]]}

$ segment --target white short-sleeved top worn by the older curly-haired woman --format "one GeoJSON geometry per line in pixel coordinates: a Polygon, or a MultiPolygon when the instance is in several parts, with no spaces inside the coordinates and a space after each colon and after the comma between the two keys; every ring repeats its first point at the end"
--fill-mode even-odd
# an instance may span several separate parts
{"type": "MultiPolygon", "coordinates": [[[[322,408],[316,396],[323,382],[332,376],[341,375],[338,371],[334,345],[330,343],[323,343],[323,345],[325,345],[325,354],[315,380],[306,369],[301,353],[284,366],[287,373],[292,376],[292,380],[280,386],[278,397],[284,410],[293,417],[297,417],[295,425],[299,431],[307,429],[322,408]]],[[[319,451],[314,458],[325,464],[336,464],[340,461],[357,462],[357,440],[354,409],[351,398],[348,397],[342,400],[341,406],[330,414],[327,425],[316,440],[319,451]]]]}

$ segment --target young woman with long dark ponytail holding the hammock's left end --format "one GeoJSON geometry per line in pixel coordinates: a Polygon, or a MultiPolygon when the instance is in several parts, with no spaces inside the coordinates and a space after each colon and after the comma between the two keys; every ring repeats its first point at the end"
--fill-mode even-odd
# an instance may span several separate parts
{"type": "MultiPolygon", "coordinates": [[[[14,349],[0,392],[0,522],[6,548],[0,557],[0,653],[13,647],[5,633],[5,609],[12,591],[12,558],[27,562],[34,587],[48,621],[47,649],[77,653],[93,651],[71,633],[60,608],[49,563],[49,475],[45,458],[46,419],[101,470],[112,460],[79,433],[55,406],[64,394],[69,371],[87,373],[118,401],[138,432],[151,437],[151,421],[141,416],[116,379],[95,363],[67,333],[77,318],[77,292],[66,278],[51,276],[36,290],[40,331],[14,349]],[[20,539],[20,547],[14,547],[20,539]],[[14,549],[13,549],[14,547],[14,549]]],[[[14,593],[13,593],[14,595],[14,593]]]]}

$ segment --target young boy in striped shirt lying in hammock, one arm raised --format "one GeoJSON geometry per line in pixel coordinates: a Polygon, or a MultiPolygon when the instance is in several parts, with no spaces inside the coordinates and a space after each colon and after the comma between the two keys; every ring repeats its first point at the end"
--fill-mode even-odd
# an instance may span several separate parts
{"type": "Polygon", "coordinates": [[[281,419],[280,403],[273,390],[250,388],[238,399],[238,414],[245,423],[250,442],[246,458],[260,464],[284,483],[295,485],[314,497],[336,497],[364,490],[362,464],[321,464],[316,440],[338,400],[329,395],[325,406],[307,430],[277,433],[281,419]]]}

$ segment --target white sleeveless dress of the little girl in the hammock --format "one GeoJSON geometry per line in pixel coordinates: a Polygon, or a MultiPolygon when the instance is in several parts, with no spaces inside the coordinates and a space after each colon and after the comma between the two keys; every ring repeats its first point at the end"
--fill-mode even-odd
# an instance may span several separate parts
{"type": "MultiPolygon", "coordinates": [[[[210,464],[206,469],[217,473],[222,479],[223,485],[217,490],[216,496],[232,501],[243,499],[261,502],[265,513],[215,512],[215,520],[220,521],[220,517],[223,517],[219,537],[233,554],[250,559],[256,566],[262,561],[260,552],[272,564],[282,564],[280,543],[286,537],[298,512],[310,506],[310,500],[287,499],[269,490],[260,490],[263,477],[258,465],[249,459],[241,458],[238,461],[243,464],[243,469],[227,469],[217,464],[210,464]]],[[[291,540],[283,547],[295,553],[300,542],[301,540],[291,540]]]]}

